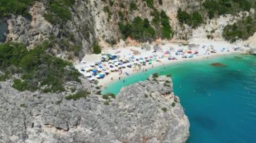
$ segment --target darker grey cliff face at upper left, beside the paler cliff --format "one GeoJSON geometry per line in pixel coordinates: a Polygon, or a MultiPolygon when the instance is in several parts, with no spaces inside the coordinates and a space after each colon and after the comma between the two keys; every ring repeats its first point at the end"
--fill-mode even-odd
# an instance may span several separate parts
{"type": "Polygon", "coordinates": [[[92,43],[95,40],[94,17],[90,3],[85,0],[76,0],[73,7],[71,20],[65,24],[53,25],[44,19],[46,13],[46,1],[36,1],[30,8],[32,19],[13,15],[7,20],[9,33],[6,42],[22,42],[33,48],[42,44],[44,40],[52,40],[54,46],[49,52],[60,58],[68,60],[82,59],[85,53],[92,51],[92,43]],[[67,42],[70,47],[81,48],[77,54],[72,49],[67,49],[67,42]]]}

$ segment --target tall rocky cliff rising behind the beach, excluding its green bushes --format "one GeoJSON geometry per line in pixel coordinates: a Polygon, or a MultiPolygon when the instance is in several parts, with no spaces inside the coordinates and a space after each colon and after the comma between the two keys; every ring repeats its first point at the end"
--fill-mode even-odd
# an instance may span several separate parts
{"type": "MultiPolygon", "coordinates": [[[[103,48],[115,44],[138,44],[129,38],[124,39],[119,28],[119,22],[131,23],[135,17],[148,19],[156,32],[157,42],[187,42],[195,38],[224,40],[223,30],[226,26],[249,15],[252,17],[255,15],[255,10],[251,8],[251,11],[233,10],[236,13],[227,13],[209,19],[207,9],[202,6],[203,2],[197,0],[74,0],[68,8],[71,12],[70,19],[54,23],[54,19],[49,22],[45,16],[50,13],[50,2],[35,1],[29,9],[31,18],[22,15],[9,17],[6,42],[22,42],[28,48],[33,48],[47,40],[51,43],[48,47],[51,54],[75,62],[81,60],[85,53],[93,52],[94,42],[98,42],[103,48]],[[203,23],[195,28],[181,23],[177,17],[179,8],[188,13],[200,11],[203,23]],[[159,20],[160,11],[165,11],[169,18],[172,29],[170,39],[161,39],[160,23],[154,23],[159,20]]],[[[253,42],[255,42],[254,38],[253,41],[249,40],[249,44],[253,42]]]]}

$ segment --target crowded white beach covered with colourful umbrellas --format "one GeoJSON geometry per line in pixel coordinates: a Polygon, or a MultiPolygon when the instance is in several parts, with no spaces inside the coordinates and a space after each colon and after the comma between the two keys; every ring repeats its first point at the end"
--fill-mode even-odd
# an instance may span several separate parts
{"type": "Polygon", "coordinates": [[[145,72],[147,69],[156,66],[186,60],[197,61],[214,56],[225,56],[226,54],[243,53],[247,51],[247,47],[243,45],[230,44],[228,42],[215,42],[212,40],[195,40],[189,42],[189,44],[148,44],[143,47],[143,49],[141,46],[105,48],[102,50],[103,54],[84,56],[79,64],[75,64],[75,68],[86,77],[90,75],[91,81],[97,80],[98,85],[104,87],[108,83],[116,80],[123,81],[123,77],[133,75],[134,73],[145,72]],[[145,47],[150,47],[150,49],[145,49],[145,47]],[[115,55],[117,58],[115,58],[113,62],[108,62],[108,60],[102,62],[102,56],[106,54],[115,55]],[[126,62],[119,62],[124,59],[126,62]],[[131,67],[127,67],[127,65],[131,65],[131,67]],[[110,70],[112,70],[112,72],[110,70]],[[108,74],[104,73],[104,71],[108,71],[108,74]],[[100,77],[99,74],[102,74],[102,77],[100,77]]]}

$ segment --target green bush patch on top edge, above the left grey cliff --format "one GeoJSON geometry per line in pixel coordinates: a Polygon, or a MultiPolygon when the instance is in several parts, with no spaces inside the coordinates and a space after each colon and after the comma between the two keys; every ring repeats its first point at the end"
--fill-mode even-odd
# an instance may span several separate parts
{"type": "Polygon", "coordinates": [[[53,24],[65,23],[71,19],[71,7],[75,0],[52,0],[47,4],[47,12],[44,13],[44,18],[53,24]]]}

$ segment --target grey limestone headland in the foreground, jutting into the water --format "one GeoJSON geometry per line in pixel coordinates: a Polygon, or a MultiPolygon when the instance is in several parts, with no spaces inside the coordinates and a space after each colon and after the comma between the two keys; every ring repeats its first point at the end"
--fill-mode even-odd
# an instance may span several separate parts
{"type": "MultiPolygon", "coordinates": [[[[94,91],[86,80],[82,89],[94,91]]],[[[86,99],[18,92],[0,83],[0,142],[186,142],[189,120],[168,77],[121,90],[109,105],[86,99]]]]}

